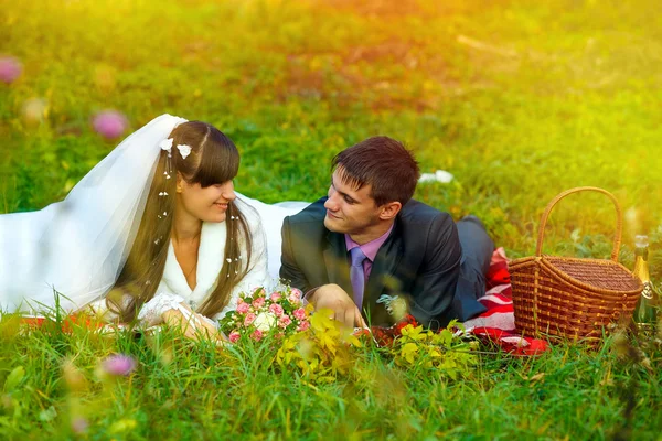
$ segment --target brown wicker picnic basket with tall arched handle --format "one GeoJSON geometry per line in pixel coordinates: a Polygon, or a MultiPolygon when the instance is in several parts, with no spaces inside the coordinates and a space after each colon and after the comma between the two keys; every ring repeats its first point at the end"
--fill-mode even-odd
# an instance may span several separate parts
{"type": "Polygon", "coordinates": [[[570,189],[545,208],[535,256],[510,262],[515,326],[525,335],[597,338],[608,324],[630,319],[643,289],[641,281],[618,262],[622,215],[613,195],[598,187],[570,189]],[[609,196],[617,213],[611,260],[544,256],[545,225],[552,208],[569,194],[592,191],[609,196]]]}

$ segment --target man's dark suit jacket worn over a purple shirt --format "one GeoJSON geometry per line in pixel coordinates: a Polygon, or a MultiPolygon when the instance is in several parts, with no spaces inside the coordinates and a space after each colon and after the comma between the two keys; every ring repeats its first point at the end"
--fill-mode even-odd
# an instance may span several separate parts
{"type": "MultiPolygon", "coordinates": [[[[324,227],[327,197],[282,224],[280,278],[303,292],[337,283],[352,295],[350,263],[343,234],[324,227]]],[[[457,318],[453,295],[460,273],[461,247],[448,213],[409,201],[380,248],[366,283],[363,309],[371,325],[395,322],[384,294],[407,300],[408,312],[437,329],[457,318]]]]}

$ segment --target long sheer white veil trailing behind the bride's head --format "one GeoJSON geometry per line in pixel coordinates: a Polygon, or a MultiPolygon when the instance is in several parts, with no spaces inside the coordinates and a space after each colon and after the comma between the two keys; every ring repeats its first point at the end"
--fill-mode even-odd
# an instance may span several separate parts
{"type": "Polygon", "coordinates": [[[62,202],[0,215],[0,312],[74,311],[115,284],[138,233],[159,143],[185,119],[162,115],[125,139],[62,202]]]}

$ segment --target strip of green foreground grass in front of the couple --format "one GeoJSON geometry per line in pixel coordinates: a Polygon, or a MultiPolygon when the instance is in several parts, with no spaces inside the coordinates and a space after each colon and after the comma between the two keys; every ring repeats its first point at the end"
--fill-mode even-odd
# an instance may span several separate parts
{"type": "MultiPolygon", "coordinates": [[[[67,439],[74,417],[89,421],[82,438],[135,440],[654,440],[662,429],[659,372],[632,357],[634,346],[612,340],[596,351],[558,345],[540,357],[487,351],[461,380],[399,368],[367,346],[355,349],[349,375],[314,384],[271,364],[270,341],[217,349],[171,332],[104,337],[74,327],[19,336],[9,320],[3,324],[2,347],[12,356],[2,358],[0,379],[8,364],[24,370],[4,387],[0,433],[8,439],[67,439]],[[102,381],[94,370],[113,352],[134,355],[138,368],[102,381]],[[65,359],[83,386],[67,387],[65,359]]],[[[656,351],[649,363],[659,367],[660,347],[648,349],[656,351]]]]}

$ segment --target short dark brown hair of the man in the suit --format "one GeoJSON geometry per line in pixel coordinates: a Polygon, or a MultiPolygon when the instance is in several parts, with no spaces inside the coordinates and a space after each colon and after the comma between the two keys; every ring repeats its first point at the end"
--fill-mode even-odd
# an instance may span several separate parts
{"type": "Polygon", "coordinates": [[[420,178],[412,151],[388,137],[367,138],[341,151],[331,163],[331,171],[334,170],[355,190],[371,185],[371,197],[377,206],[394,201],[405,205],[420,178]]]}

